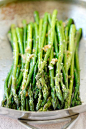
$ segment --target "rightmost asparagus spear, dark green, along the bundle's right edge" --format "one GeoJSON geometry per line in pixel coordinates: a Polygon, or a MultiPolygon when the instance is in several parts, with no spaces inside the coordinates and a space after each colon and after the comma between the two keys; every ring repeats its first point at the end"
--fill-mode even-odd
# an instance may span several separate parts
{"type": "Polygon", "coordinates": [[[80,66],[79,66],[79,57],[78,57],[78,47],[79,47],[79,41],[82,36],[82,29],[80,28],[76,32],[76,40],[77,46],[75,50],[75,67],[74,67],[74,78],[75,78],[75,87],[74,87],[74,96],[72,99],[72,106],[80,105],[80,93],[79,93],[79,85],[80,85],[80,66]]]}

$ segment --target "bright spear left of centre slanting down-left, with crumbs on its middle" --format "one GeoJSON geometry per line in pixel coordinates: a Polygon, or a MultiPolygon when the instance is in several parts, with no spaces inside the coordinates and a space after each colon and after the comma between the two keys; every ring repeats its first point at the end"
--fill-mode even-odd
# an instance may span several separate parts
{"type": "Polygon", "coordinates": [[[31,49],[32,49],[32,24],[28,25],[28,30],[27,30],[27,48],[28,51],[26,53],[26,62],[25,62],[25,69],[23,73],[23,81],[22,81],[22,91],[21,91],[21,110],[25,109],[25,90],[26,90],[26,81],[27,81],[27,74],[28,74],[28,69],[29,69],[29,64],[30,64],[30,54],[31,54],[31,49]]]}

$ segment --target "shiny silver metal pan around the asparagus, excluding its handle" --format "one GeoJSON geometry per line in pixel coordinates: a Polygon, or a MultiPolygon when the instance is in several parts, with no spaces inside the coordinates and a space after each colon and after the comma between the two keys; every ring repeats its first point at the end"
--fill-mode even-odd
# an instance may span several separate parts
{"type": "Polygon", "coordinates": [[[33,20],[33,12],[38,10],[42,17],[44,12],[50,12],[54,9],[58,10],[58,19],[67,20],[73,18],[76,28],[83,29],[83,38],[80,42],[79,57],[80,57],[80,96],[82,105],[70,109],[48,112],[24,112],[16,111],[0,107],[0,114],[11,116],[13,118],[26,119],[56,119],[62,118],[76,113],[86,111],[86,3],[70,3],[59,1],[33,1],[9,4],[0,9],[0,103],[4,94],[4,81],[12,64],[12,50],[7,39],[7,32],[12,23],[21,26],[22,19],[27,19],[28,22],[33,20]]]}

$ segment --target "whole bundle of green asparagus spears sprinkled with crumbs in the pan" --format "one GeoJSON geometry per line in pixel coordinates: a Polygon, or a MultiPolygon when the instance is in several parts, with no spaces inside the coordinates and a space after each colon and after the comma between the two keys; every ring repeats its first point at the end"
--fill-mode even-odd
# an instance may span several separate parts
{"type": "Polygon", "coordinates": [[[81,104],[78,48],[82,29],[45,13],[35,22],[11,25],[14,62],[5,79],[2,106],[26,111],[59,110],[81,104]]]}

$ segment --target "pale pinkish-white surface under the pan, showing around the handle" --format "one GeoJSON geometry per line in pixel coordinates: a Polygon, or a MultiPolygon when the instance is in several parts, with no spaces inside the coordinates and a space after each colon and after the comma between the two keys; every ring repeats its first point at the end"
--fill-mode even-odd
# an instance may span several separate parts
{"type": "MultiPolygon", "coordinates": [[[[81,113],[78,118],[67,129],[86,129],[86,112],[81,113]]],[[[38,129],[62,129],[67,122],[34,125],[38,129]]],[[[27,129],[22,126],[18,120],[0,115],[0,129],[27,129]]],[[[28,128],[29,129],[29,128],[28,128]]]]}

